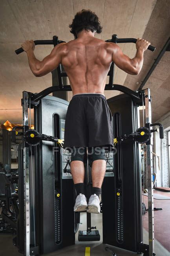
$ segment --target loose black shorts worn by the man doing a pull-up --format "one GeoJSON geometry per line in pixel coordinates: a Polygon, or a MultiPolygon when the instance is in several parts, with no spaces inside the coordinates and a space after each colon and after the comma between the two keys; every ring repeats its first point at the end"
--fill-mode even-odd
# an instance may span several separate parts
{"type": "Polygon", "coordinates": [[[64,148],[69,147],[113,147],[112,113],[106,97],[99,93],[74,95],[69,102],[64,148]]]}

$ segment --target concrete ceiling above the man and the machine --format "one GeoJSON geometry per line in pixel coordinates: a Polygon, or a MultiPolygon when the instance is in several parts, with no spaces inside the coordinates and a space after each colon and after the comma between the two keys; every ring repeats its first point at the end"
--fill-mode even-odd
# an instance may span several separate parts
{"type": "MultiPolygon", "coordinates": [[[[170,36],[169,0],[1,0],[0,3],[0,124],[6,120],[22,123],[22,91],[35,93],[52,85],[51,74],[36,78],[29,69],[26,54],[17,56],[14,51],[26,39],[52,39],[57,35],[60,40],[72,40],[68,24],[77,11],[95,11],[103,26],[102,34],[97,35],[100,39],[111,39],[113,33],[119,38],[144,37],[157,48],[154,53],[149,50],[144,53],[139,75],[130,76],[115,69],[114,83],[133,90],[139,87],[170,36]]],[[[134,44],[119,46],[130,58],[135,56],[134,44]]],[[[43,59],[51,50],[52,46],[36,46],[35,56],[43,59]]],[[[170,111],[169,70],[170,53],[166,52],[144,87],[151,88],[154,121],[170,111]]],[[[107,98],[117,94],[117,91],[105,92],[107,98]]]]}

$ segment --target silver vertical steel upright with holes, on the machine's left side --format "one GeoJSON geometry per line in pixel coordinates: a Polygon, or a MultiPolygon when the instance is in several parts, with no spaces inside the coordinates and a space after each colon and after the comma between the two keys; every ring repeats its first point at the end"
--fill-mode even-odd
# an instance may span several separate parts
{"type": "MultiPolygon", "coordinates": [[[[22,94],[23,126],[28,126],[28,93],[22,94]]],[[[24,128],[25,132],[25,128],[24,128]]],[[[29,148],[23,141],[23,184],[24,184],[24,251],[29,256],[30,248],[30,210],[29,210],[29,148]]]]}

